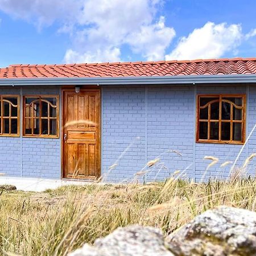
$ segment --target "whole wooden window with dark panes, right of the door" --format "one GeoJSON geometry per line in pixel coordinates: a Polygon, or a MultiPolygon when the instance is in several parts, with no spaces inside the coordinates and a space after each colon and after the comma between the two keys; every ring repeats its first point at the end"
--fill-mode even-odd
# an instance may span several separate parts
{"type": "Polygon", "coordinates": [[[197,96],[197,142],[245,142],[245,95],[197,96]]]}

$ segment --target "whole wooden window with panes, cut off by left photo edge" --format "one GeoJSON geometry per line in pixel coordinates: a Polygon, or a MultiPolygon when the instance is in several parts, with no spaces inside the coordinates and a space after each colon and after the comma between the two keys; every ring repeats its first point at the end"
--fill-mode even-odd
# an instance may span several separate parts
{"type": "Polygon", "coordinates": [[[1,136],[19,136],[19,96],[1,95],[1,136]]]}

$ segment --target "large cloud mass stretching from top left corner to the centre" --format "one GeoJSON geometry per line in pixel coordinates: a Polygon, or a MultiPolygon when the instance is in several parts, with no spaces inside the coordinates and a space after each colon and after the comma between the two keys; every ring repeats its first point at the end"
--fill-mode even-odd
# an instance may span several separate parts
{"type": "Polygon", "coordinates": [[[148,60],[164,58],[175,36],[158,10],[164,0],[0,0],[0,10],[36,27],[59,23],[72,47],[64,60],[99,62],[121,60],[128,47],[148,60]]]}

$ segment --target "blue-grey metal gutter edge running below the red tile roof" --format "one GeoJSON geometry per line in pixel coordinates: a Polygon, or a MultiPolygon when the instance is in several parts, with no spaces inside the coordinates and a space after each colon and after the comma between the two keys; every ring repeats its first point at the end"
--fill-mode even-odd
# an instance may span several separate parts
{"type": "Polygon", "coordinates": [[[0,79],[0,86],[21,85],[145,85],[256,82],[254,75],[140,76],[140,77],[56,77],[0,79]]]}

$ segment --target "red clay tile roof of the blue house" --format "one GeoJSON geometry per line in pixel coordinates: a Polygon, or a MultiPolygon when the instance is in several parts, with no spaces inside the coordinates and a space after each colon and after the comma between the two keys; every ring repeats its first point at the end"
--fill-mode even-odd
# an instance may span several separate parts
{"type": "Polygon", "coordinates": [[[63,65],[10,65],[0,79],[36,77],[129,77],[256,74],[256,58],[63,65]]]}

